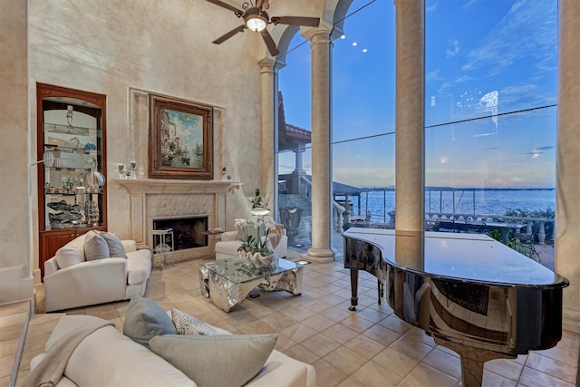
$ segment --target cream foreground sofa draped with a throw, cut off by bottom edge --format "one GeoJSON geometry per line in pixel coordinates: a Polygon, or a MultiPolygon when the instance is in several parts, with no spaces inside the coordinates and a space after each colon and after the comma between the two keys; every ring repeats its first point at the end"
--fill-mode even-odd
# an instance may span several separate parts
{"type": "MultiPolygon", "coordinates": [[[[74,324],[86,324],[87,315],[63,316],[46,343],[45,351],[71,332],[74,324]]],[[[218,334],[229,334],[214,327],[218,334]]],[[[34,357],[34,370],[46,353],[34,357]]],[[[210,367],[211,368],[211,367],[210,367]]],[[[41,367],[42,369],[42,367],[41,367]]],[[[215,368],[218,372],[218,367],[215,368]]],[[[214,370],[210,370],[213,372],[214,370]]],[[[46,376],[44,376],[45,380],[46,376]]],[[[252,387],[314,387],[314,367],[273,350],[256,376],[247,382],[252,387]]],[[[114,326],[105,326],[86,336],[73,350],[65,365],[59,387],[70,386],[196,386],[185,373],[147,347],[121,334],[114,326]]]]}

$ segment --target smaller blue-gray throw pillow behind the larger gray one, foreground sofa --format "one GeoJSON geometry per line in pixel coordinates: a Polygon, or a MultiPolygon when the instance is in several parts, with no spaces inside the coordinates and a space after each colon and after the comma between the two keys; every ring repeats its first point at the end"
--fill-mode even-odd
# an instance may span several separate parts
{"type": "Polygon", "coordinates": [[[123,323],[123,334],[149,348],[149,341],[158,334],[177,334],[175,325],[163,308],[145,297],[133,295],[123,323]]]}

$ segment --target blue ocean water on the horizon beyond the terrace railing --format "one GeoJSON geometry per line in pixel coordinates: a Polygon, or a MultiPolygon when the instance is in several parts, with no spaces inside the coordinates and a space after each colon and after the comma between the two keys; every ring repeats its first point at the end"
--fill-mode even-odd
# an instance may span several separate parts
{"type": "MultiPolygon", "coordinates": [[[[357,198],[350,198],[353,215],[358,214],[357,198]]],[[[361,194],[361,215],[367,208],[373,222],[388,222],[395,208],[394,191],[371,191],[361,194]]],[[[546,211],[556,208],[555,189],[479,189],[426,191],[425,212],[444,212],[478,216],[504,216],[509,209],[546,211]]]]}

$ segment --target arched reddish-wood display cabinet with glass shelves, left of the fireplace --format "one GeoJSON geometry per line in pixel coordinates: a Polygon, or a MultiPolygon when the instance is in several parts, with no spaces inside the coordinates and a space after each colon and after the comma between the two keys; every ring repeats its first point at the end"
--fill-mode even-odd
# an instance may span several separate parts
{"type": "Polygon", "coordinates": [[[106,96],[36,84],[39,266],[68,241],[107,229],[106,96]]]}

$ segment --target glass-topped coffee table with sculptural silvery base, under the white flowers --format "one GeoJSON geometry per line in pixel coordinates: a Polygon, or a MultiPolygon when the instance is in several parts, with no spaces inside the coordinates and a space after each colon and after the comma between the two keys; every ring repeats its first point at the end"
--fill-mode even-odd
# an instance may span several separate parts
{"type": "Polygon", "coordinates": [[[265,268],[248,267],[238,256],[211,261],[199,269],[201,295],[224,312],[240,304],[256,286],[266,291],[302,294],[304,266],[284,258],[265,268]]]}

